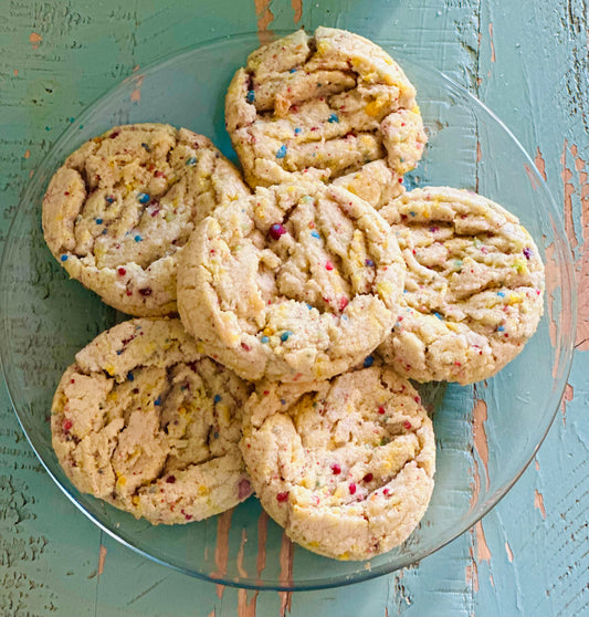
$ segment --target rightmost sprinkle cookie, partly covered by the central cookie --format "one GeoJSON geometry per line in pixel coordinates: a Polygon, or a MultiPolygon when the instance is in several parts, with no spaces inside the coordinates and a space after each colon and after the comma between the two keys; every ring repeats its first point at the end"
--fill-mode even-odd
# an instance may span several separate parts
{"type": "Polygon", "coordinates": [[[380,213],[398,234],[407,279],[379,352],[419,381],[493,376],[543,314],[544,265],[529,233],[497,203],[449,187],[407,192],[380,213]]]}

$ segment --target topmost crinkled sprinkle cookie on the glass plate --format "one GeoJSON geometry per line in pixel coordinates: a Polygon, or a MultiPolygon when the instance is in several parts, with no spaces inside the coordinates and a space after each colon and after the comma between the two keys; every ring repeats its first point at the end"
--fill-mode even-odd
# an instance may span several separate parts
{"type": "Polygon", "coordinates": [[[251,53],[229,86],[225,122],[252,187],[301,174],[334,180],[381,160],[386,175],[372,181],[399,194],[425,144],[401,67],[377,44],[335,28],[299,30],[251,53]]]}

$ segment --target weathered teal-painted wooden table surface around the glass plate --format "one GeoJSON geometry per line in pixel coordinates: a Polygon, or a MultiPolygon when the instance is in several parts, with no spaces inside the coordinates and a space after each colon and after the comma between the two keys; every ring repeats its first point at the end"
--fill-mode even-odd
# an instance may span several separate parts
{"type": "Polygon", "coordinates": [[[589,615],[588,14],[587,0],[0,0],[2,242],[51,144],[134,69],[222,34],[326,24],[421,48],[497,113],[557,198],[580,287],[566,400],[523,478],[438,553],[347,588],[223,588],[118,545],[44,473],[2,388],[1,616],[589,615]]]}

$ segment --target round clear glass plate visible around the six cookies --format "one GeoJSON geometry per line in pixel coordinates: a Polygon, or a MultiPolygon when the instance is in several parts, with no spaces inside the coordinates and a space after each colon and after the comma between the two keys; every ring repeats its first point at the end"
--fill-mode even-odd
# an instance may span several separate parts
{"type": "Polygon", "coordinates": [[[435,490],[420,527],[370,563],[319,557],[285,538],[250,499],[234,511],[179,526],[151,526],[90,495],[61,470],[51,448],[50,406],[74,354],[120,313],[67,279],[43,241],[41,202],[49,179],[84,140],[116,124],[164,122],[202,133],[235,159],[224,130],[229,81],[255,34],[207,42],[113,88],[57,139],[27,187],[0,272],[1,357],[12,404],[31,446],[64,493],[106,533],[187,574],[251,588],[313,589],[372,578],[421,560],[478,521],[509,490],[541,443],[565,388],[575,326],[571,258],[550,192],[505,126],[451,80],[378,41],[418,88],[429,133],[411,186],[478,190],[515,212],[547,263],[546,311],[523,353],[473,387],[428,386],[435,407],[435,490]]]}

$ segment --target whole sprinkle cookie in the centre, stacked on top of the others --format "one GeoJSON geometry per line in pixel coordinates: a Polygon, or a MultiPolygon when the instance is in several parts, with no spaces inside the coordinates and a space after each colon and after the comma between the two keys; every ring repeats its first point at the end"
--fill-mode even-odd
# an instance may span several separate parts
{"type": "Polygon", "coordinates": [[[326,378],[390,332],[404,265],[367,202],[323,182],[260,187],[217,208],[182,255],[178,308],[245,379],[326,378]]]}

